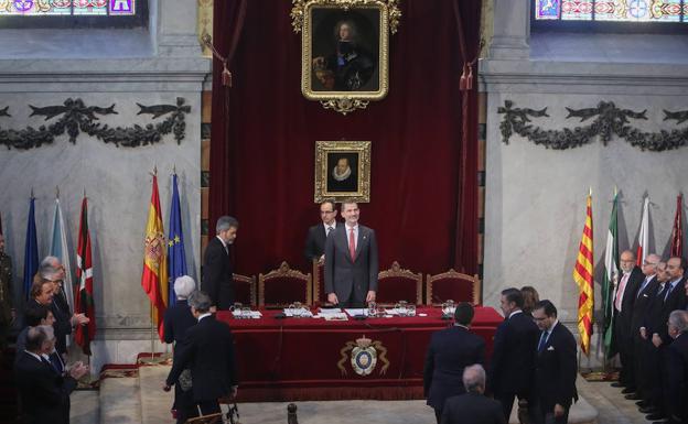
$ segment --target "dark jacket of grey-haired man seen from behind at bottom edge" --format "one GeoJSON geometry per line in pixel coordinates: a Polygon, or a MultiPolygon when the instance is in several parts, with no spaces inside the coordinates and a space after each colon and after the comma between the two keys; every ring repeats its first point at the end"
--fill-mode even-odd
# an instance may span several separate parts
{"type": "Polygon", "coordinates": [[[441,424],[506,424],[502,404],[482,394],[451,396],[444,403],[441,424]]]}

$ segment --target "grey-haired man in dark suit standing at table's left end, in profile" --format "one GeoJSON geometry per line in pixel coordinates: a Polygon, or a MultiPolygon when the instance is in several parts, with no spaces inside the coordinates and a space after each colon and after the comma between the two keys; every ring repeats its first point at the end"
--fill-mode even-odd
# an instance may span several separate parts
{"type": "Polygon", "coordinates": [[[234,271],[229,258],[229,246],[236,239],[239,221],[222,216],[215,225],[215,232],[205,248],[203,257],[203,280],[201,289],[206,292],[217,311],[234,305],[234,271]]]}

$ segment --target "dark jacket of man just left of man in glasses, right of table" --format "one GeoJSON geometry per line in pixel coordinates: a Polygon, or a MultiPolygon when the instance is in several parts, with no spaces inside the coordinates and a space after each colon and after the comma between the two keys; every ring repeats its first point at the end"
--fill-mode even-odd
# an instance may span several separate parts
{"type": "Polygon", "coordinates": [[[533,388],[540,331],[531,316],[518,313],[504,320],[494,336],[487,384],[495,394],[528,393],[533,388]]]}

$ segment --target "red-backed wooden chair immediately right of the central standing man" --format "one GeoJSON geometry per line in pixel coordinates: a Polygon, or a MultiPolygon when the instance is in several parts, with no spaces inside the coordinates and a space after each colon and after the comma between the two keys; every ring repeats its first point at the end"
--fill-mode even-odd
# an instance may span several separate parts
{"type": "Polygon", "coordinates": [[[377,276],[376,301],[381,305],[394,305],[399,301],[422,304],[422,274],[402,270],[394,261],[389,270],[380,271],[377,276]]]}

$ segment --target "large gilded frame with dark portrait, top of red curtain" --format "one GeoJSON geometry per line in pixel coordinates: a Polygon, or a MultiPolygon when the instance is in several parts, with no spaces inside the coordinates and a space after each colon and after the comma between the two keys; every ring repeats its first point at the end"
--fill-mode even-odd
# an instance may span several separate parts
{"type": "Polygon", "coordinates": [[[381,100],[389,89],[389,33],[398,0],[293,0],[301,32],[301,91],[346,115],[381,100]]]}

